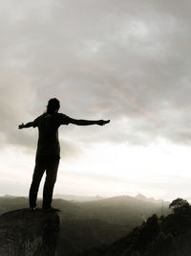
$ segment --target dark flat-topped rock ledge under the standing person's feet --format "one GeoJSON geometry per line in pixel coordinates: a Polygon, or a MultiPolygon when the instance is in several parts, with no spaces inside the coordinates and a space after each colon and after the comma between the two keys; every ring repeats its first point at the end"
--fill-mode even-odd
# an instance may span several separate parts
{"type": "Polygon", "coordinates": [[[20,209],[0,217],[1,256],[53,256],[59,235],[56,211],[20,209]]]}

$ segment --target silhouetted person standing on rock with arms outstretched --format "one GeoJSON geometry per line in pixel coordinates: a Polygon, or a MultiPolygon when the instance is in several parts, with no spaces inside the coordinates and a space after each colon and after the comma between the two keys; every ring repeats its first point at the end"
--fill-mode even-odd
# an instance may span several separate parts
{"type": "Polygon", "coordinates": [[[61,125],[74,124],[77,126],[103,126],[110,122],[104,120],[77,120],[62,113],[58,113],[60,103],[53,98],[47,105],[46,113],[38,116],[33,122],[22,124],[18,128],[38,128],[39,138],[35,157],[35,167],[32,175],[30,188],[30,207],[35,210],[36,198],[41,178],[46,171],[46,179],[43,189],[42,208],[51,210],[53,199],[53,186],[56,180],[57,169],[60,159],[60,146],[58,140],[58,128],[61,125]]]}

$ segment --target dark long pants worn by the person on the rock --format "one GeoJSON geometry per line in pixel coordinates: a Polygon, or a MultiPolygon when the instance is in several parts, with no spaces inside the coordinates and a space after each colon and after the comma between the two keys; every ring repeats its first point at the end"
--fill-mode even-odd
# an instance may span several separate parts
{"type": "Polygon", "coordinates": [[[58,156],[43,155],[36,157],[35,167],[32,176],[32,185],[30,188],[30,207],[36,206],[36,198],[41,178],[46,171],[46,179],[43,189],[42,208],[50,208],[53,199],[53,186],[57,176],[57,168],[59,165],[58,156]]]}

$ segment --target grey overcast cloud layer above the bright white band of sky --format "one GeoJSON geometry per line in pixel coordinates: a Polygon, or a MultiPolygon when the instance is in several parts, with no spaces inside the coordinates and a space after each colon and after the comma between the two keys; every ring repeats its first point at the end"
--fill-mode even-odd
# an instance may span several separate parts
{"type": "Polygon", "coordinates": [[[107,128],[67,127],[69,154],[87,141],[191,143],[189,1],[0,3],[2,147],[33,147],[33,130],[17,125],[52,97],[74,118],[111,119],[107,128]]]}

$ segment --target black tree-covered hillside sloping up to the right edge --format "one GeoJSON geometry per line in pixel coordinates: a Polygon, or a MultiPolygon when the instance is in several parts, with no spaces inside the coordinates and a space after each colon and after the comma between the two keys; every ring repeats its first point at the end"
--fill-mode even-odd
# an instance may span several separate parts
{"type": "Polygon", "coordinates": [[[77,256],[190,256],[191,206],[187,200],[177,198],[169,207],[168,216],[153,215],[113,244],[77,256]]]}

